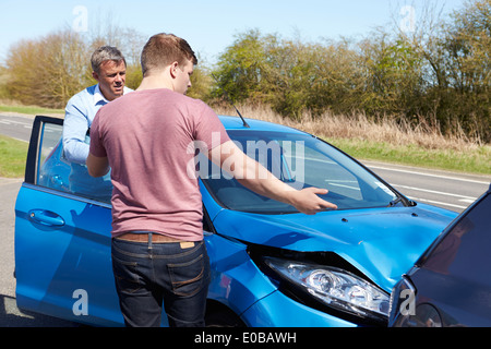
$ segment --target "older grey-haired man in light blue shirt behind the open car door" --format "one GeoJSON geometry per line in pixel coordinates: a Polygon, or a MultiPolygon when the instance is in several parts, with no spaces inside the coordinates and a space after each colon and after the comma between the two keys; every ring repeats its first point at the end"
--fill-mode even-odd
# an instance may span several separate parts
{"type": "Polygon", "coordinates": [[[70,190],[94,198],[110,197],[110,177],[94,179],[88,176],[85,160],[88,156],[88,130],[100,107],[131,92],[124,86],[127,62],[111,46],[103,46],[91,58],[92,76],[97,84],[74,95],[67,104],[63,123],[63,158],[70,163],[70,190]]]}

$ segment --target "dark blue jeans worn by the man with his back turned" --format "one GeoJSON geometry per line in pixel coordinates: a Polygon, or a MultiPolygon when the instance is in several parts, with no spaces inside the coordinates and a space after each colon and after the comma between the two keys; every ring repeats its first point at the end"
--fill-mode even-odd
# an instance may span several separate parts
{"type": "Polygon", "coordinates": [[[164,309],[173,327],[203,327],[209,260],[203,241],[132,242],[112,239],[112,269],[127,326],[160,326],[164,309]]]}

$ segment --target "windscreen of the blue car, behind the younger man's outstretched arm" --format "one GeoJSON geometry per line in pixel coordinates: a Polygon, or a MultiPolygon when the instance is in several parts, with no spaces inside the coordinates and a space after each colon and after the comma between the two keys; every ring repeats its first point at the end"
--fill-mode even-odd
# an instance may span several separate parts
{"type": "MultiPolygon", "coordinates": [[[[228,134],[249,157],[290,186],[327,189],[328,193],[321,197],[338,209],[387,206],[397,197],[395,191],[349,156],[309,134],[252,130],[228,134]]],[[[204,156],[196,156],[195,161],[204,185],[224,207],[262,214],[297,212],[250,191],[204,156]]]]}

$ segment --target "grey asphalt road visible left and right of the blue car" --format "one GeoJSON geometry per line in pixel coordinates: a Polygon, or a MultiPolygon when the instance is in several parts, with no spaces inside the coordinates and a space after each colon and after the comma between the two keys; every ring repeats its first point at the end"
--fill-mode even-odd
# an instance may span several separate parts
{"type": "MultiPolygon", "coordinates": [[[[28,142],[32,123],[33,117],[0,115],[0,134],[28,142]]],[[[455,212],[464,210],[491,182],[491,176],[362,163],[410,198],[455,212]]],[[[14,205],[21,184],[22,179],[0,178],[0,327],[73,326],[72,323],[49,316],[23,313],[15,306],[14,205]]]]}

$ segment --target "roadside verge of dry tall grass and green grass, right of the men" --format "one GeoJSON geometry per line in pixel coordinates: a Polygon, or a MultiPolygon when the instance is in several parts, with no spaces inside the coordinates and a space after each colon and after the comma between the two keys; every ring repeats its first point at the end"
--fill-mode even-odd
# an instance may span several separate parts
{"type": "MultiPolygon", "coordinates": [[[[357,159],[491,176],[491,144],[469,140],[458,129],[443,135],[436,122],[410,124],[394,117],[372,120],[360,113],[318,118],[306,113],[294,121],[266,106],[239,106],[239,110],[247,117],[315,134],[357,159]]],[[[229,107],[216,111],[236,115],[229,107]]]]}

